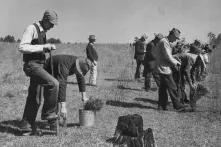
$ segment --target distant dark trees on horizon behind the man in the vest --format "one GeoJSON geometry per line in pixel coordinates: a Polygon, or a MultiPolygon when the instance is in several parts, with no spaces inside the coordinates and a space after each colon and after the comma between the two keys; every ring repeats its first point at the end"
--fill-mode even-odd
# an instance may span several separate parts
{"type": "MultiPolygon", "coordinates": [[[[21,42],[20,39],[15,39],[14,36],[12,35],[7,35],[5,37],[0,37],[0,42],[8,42],[8,43],[16,43],[16,42],[21,42]]],[[[49,38],[47,39],[47,43],[53,43],[53,44],[59,44],[62,43],[61,40],[59,38],[49,38]]]]}

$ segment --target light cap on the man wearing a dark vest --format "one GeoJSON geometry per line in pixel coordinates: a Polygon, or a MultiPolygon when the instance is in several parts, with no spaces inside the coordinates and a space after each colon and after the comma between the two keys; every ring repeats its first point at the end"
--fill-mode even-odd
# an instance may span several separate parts
{"type": "Polygon", "coordinates": [[[53,10],[46,10],[44,12],[42,20],[48,20],[50,23],[57,25],[58,24],[58,15],[53,10]]]}

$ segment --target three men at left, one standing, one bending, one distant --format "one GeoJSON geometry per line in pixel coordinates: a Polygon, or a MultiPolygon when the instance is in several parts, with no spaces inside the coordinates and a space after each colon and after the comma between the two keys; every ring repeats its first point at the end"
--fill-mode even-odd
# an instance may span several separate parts
{"type": "Polygon", "coordinates": [[[50,129],[56,131],[58,113],[63,118],[67,117],[68,76],[76,75],[83,103],[89,100],[85,92],[84,78],[89,70],[91,72],[89,84],[96,86],[98,54],[94,46],[95,35],[90,35],[88,38],[87,57],[52,56],[52,51],[56,50],[56,46],[47,43],[46,32],[57,25],[57,21],[57,13],[46,10],[42,20],[25,29],[19,45],[19,51],[23,53],[23,70],[30,77],[28,96],[20,124],[20,128],[24,132],[36,130],[35,120],[41,104],[41,95],[44,96],[41,119],[47,120],[50,129]],[[58,112],[58,104],[61,106],[60,112],[58,112]]]}

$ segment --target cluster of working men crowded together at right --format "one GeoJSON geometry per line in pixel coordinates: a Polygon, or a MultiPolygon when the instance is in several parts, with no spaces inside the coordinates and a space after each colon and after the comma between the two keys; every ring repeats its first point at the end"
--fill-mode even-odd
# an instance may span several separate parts
{"type": "Polygon", "coordinates": [[[168,94],[173,107],[178,112],[187,110],[190,103],[191,111],[196,110],[196,101],[193,97],[196,92],[196,81],[205,73],[208,64],[207,53],[211,52],[208,45],[202,48],[198,40],[187,46],[180,40],[180,30],[173,28],[168,36],[155,34],[155,38],[146,44],[146,35],[136,38],[133,43],[134,59],[137,62],[135,79],[141,75],[141,65],[144,65],[144,88],[151,90],[151,77],[158,86],[158,109],[167,110],[168,94]],[[190,87],[190,98],[185,92],[186,84],[190,87]]]}

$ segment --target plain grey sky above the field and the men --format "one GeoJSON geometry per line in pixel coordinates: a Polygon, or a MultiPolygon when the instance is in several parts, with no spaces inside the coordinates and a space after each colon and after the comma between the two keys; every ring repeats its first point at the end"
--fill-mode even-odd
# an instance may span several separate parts
{"type": "Polygon", "coordinates": [[[221,32],[221,0],[0,0],[0,36],[21,38],[24,29],[42,18],[45,9],[58,13],[59,25],[48,38],[98,43],[133,41],[146,33],[167,35],[176,27],[187,41],[207,41],[207,33],[221,32]]]}

